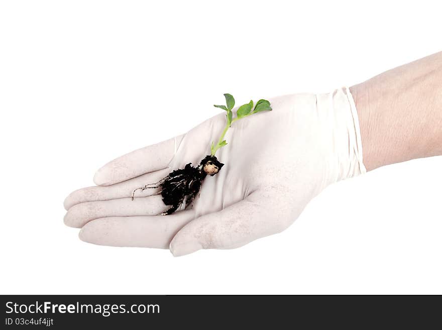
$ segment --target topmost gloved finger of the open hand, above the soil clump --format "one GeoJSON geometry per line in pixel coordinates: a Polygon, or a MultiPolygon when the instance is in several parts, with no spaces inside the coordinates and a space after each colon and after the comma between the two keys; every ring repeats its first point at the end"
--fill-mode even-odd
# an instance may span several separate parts
{"type": "Polygon", "coordinates": [[[96,185],[108,186],[166,168],[175,155],[183,136],[180,135],[114,159],[95,173],[93,181],[96,185]]]}

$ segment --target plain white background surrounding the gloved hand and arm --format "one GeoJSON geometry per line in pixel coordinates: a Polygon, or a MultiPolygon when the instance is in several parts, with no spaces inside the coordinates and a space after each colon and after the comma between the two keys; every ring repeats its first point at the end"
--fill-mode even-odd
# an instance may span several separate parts
{"type": "Polygon", "coordinates": [[[98,167],[188,131],[225,92],[327,92],[440,51],[434,4],[2,1],[0,293],[442,293],[442,157],[330,186],[236,250],[173,258],[63,224],[98,167]]]}

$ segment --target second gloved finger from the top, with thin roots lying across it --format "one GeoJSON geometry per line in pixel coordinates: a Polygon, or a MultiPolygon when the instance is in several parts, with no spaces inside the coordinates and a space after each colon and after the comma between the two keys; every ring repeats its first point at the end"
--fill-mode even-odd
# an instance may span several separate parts
{"type": "MultiPolygon", "coordinates": [[[[93,186],[81,188],[70,193],[64,200],[64,208],[68,210],[72,206],[89,201],[111,200],[126,198],[132,192],[149,183],[155,183],[169,174],[168,168],[153,173],[140,175],[136,178],[113,184],[111,186],[93,186]]],[[[159,193],[161,188],[149,188],[144,191],[137,191],[136,197],[151,196],[159,193]]]]}

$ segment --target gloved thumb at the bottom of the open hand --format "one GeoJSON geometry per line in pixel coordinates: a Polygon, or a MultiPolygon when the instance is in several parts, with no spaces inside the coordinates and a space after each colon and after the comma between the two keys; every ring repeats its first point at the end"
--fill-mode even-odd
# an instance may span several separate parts
{"type": "Polygon", "coordinates": [[[200,249],[228,249],[279,233],[293,219],[291,207],[274,191],[255,191],[218,212],[196,218],[173,238],[170,251],[182,256],[200,249]]]}

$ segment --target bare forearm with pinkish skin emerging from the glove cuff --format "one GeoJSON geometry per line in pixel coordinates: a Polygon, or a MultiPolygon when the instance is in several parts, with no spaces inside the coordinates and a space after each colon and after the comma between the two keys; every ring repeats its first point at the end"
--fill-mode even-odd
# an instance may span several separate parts
{"type": "Polygon", "coordinates": [[[442,155],[442,52],[350,88],[367,170],[442,155]]]}

